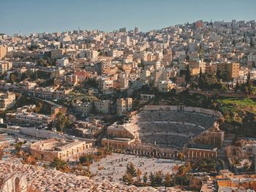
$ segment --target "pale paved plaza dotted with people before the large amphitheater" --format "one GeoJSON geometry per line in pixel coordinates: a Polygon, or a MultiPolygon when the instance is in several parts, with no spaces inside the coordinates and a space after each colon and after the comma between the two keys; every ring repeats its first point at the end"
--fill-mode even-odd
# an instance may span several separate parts
{"type": "Polygon", "coordinates": [[[96,174],[94,180],[110,180],[118,182],[126,172],[128,162],[132,162],[141,171],[141,177],[147,172],[162,171],[164,174],[173,172],[173,166],[181,165],[181,161],[162,158],[147,158],[135,155],[113,153],[99,162],[91,164],[91,174],[96,174]]]}

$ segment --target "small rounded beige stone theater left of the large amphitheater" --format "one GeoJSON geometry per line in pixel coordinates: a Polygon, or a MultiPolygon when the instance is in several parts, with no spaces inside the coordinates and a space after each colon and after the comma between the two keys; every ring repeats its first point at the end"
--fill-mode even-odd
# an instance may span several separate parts
{"type": "Polygon", "coordinates": [[[30,152],[43,161],[53,161],[54,158],[67,161],[89,153],[91,146],[91,143],[80,140],[47,139],[33,143],[30,152]]]}

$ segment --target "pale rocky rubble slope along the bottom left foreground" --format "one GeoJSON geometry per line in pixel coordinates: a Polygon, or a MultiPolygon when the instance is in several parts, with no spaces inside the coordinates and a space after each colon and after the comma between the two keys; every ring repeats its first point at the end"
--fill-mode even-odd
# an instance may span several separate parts
{"type": "MultiPolygon", "coordinates": [[[[28,166],[18,162],[0,161],[0,179],[19,177],[20,182],[26,183],[26,186],[43,191],[159,191],[154,188],[137,188],[120,183],[111,183],[108,180],[97,182],[89,177],[77,176],[59,172],[53,169],[44,169],[40,166],[28,166]]],[[[10,180],[12,180],[10,178],[10,180]]],[[[179,191],[170,188],[167,191],[179,191]]],[[[0,189],[1,192],[1,189],[0,189]]]]}

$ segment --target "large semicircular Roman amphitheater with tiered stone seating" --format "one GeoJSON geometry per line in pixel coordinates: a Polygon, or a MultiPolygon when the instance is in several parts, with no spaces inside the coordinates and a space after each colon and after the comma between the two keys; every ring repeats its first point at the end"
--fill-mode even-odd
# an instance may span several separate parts
{"type": "Polygon", "coordinates": [[[118,148],[152,146],[181,149],[189,145],[222,147],[224,132],[219,130],[221,113],[198,107],[147,105],[128,123],[108,126],[102,144],[118,148]]]}

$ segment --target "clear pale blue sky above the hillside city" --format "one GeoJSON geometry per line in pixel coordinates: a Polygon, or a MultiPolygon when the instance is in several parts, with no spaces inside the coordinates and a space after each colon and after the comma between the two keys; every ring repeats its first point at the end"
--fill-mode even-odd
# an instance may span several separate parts
{"type": "Polygon", "coordinates": [[[0,33],[142,31],[195,20],[256,20],[256,0],[0,0],[0,33]]]}

